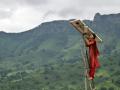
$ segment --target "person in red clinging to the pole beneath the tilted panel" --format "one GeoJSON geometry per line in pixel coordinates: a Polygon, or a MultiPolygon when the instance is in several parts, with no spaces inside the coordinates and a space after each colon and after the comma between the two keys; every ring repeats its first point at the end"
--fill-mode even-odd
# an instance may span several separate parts
{"type": "Polygon", "coordinates": [[[95,76],[96,68],[100,67],[98,61],[99,51],[96,43],[96,35],[94,33],[86,35],[85,44],[89,48],[89,79],[93,80],[95,76]]]}

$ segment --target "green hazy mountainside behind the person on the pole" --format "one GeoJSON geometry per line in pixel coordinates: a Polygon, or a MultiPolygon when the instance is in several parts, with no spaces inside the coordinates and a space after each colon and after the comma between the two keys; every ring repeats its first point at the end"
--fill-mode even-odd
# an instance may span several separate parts
{"type": "MultiPolygon", "coordinates": [[[[96,78],[97,88],[120,89],[120,14],[97,13],[93,21],[83,21],[103,39],[98,45],[101,68],[96,78]]],[[[83,77],[79,77],[84,72],[81,70],[82,45],[81,35],[69,20],[42,23],[21,33],[0,32],[0,89],[10,90],[27,84],[15,90],[41,90],[44,87],[48,88],[45,90],[67,90],[65,88],[69,86],[74,87],[71,90],[83,90],[79,87],[79,83],[84,84],[83,77]]]]}

